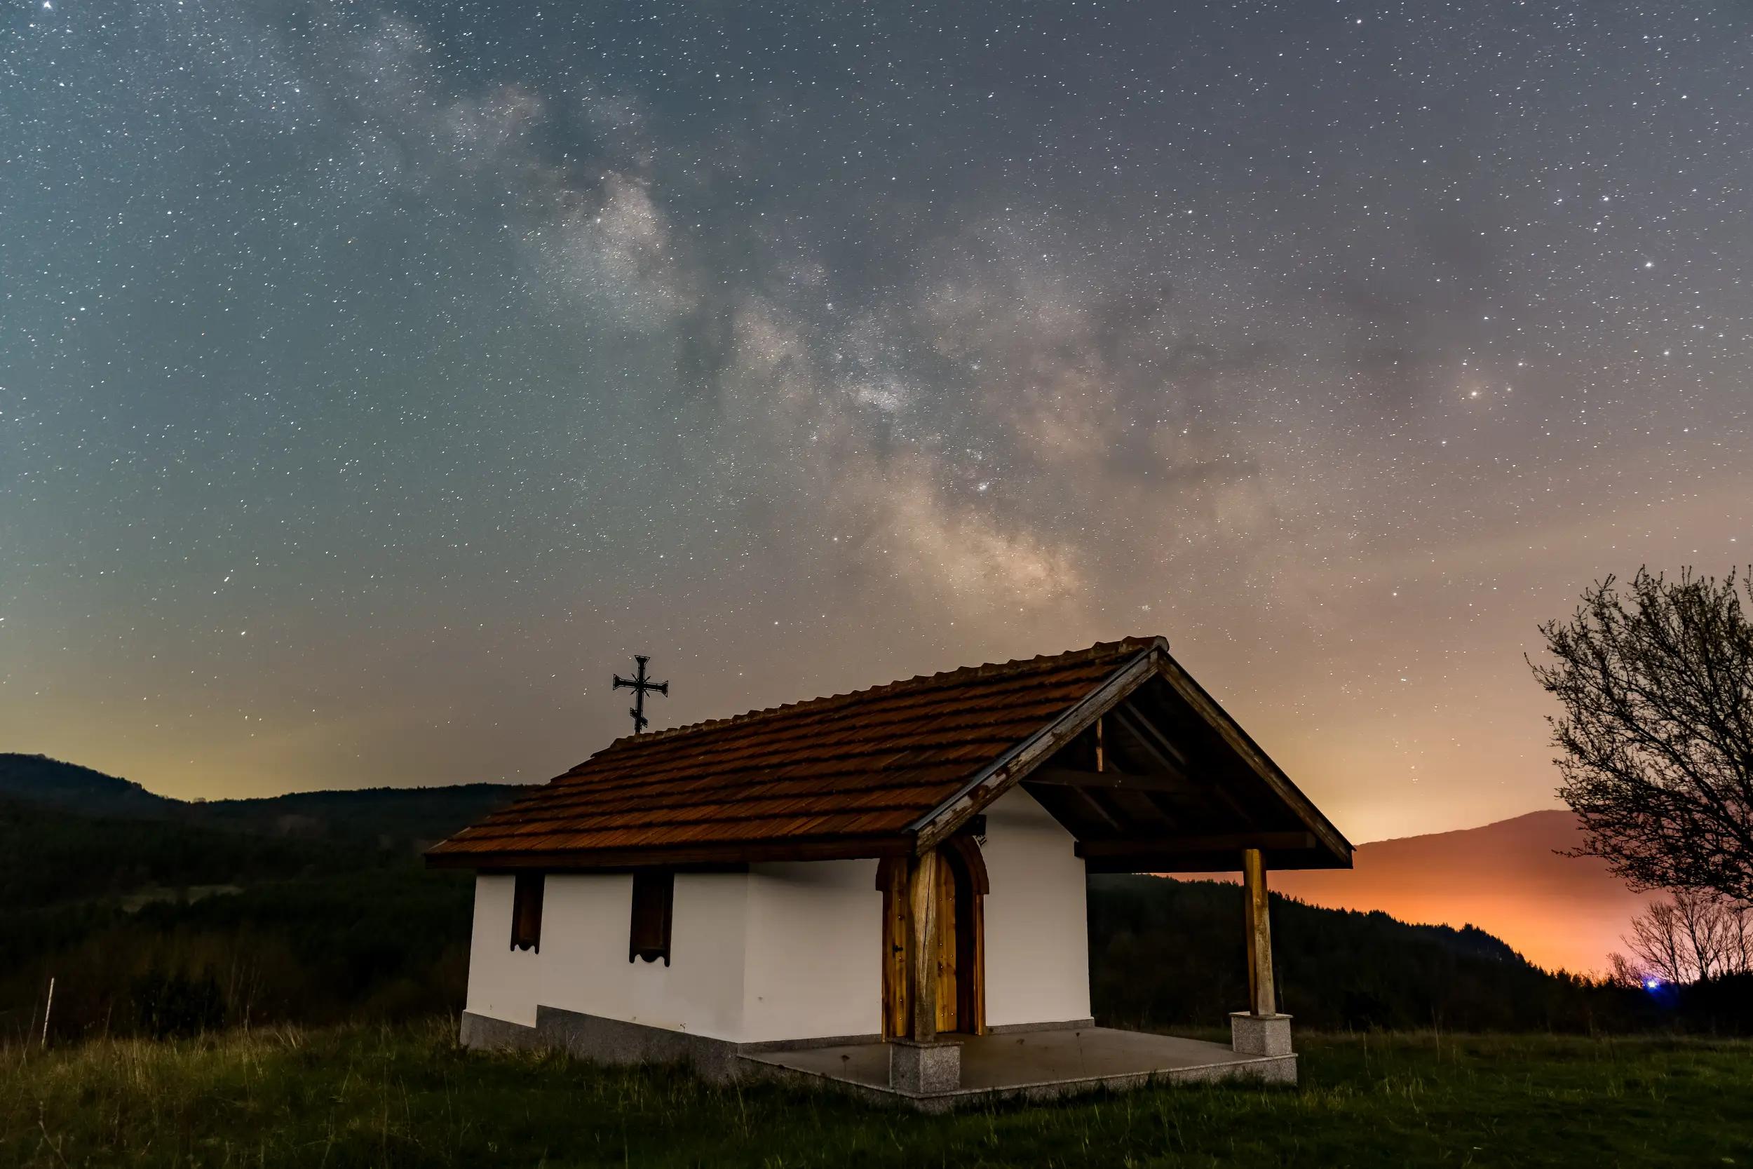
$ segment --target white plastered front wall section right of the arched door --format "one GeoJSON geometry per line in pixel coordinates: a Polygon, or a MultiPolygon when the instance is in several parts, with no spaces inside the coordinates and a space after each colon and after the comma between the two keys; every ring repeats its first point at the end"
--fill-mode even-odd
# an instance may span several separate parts
{"type": "Polygon", "coordinates": [[[985,813],[987,1025],[1089,1018],[1083,859],[1071,832],[1020,787],[985,813]]]}

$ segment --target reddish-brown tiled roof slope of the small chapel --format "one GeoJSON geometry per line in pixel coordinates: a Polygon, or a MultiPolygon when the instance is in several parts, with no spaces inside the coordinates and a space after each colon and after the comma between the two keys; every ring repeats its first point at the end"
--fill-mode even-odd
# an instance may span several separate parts
{"type": "Polygon", "coordinates": [[[621,738],[428,855],[491,866],[899,840],[1153,645],[1104,641],[621,738]]]}

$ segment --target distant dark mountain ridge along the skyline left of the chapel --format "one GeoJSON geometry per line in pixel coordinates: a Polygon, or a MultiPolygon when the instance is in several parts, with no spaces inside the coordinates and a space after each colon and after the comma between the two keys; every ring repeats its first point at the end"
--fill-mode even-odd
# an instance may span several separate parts
{"type": "Polygon", "coordinates": [[[65,808],[82,817],[177,820],[258,836],[380,848],[424,848],[526,790],[517,783],[459,783],[186,801],[47,755],[0,754],[0,797],[65,808]]]}

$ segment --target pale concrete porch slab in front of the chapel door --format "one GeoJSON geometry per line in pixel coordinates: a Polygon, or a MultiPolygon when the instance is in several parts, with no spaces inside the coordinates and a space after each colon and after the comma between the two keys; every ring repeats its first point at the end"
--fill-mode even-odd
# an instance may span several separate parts
{"type": "Polygon", "coordinates": [[[1139,1031],[1082,1027],[957,1036],[961,1085],[936,1092],[891,1087],[887,1043],[743,1052],[747,1071],[803,1081],[833,1081],[876,1102],[943,1111],[957,1104],[1020,1097],[1052,1099],[1146,1083],[1252,1078],[1295,1083],[1295,1055],[1243,1055],[1218,1043],[1139,1031]]]}

